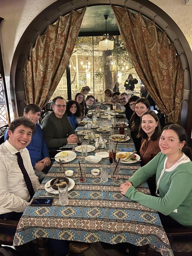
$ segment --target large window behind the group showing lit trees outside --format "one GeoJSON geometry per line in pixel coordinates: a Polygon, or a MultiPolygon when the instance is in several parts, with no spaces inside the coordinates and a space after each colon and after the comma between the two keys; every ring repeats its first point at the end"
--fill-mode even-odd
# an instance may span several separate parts
{"type": "MultiPolygon", "coordinates": [[[[119,83],[119,91],[125,91],[124,82],[130,73],[139,81],[135,91],[140,95],[141,81],[133,68],[121,36],[113,36],[112,51],[99,51],[99,41],[102,39],[102,36],[78,37],[69,65],[71,98],[74,99],[76,93],[80,92],[83,86],[88,85],[91,88],[90,94],[94,94],[96,99],[103,101],[104,90],[112,89],[116,81],[119,83]]],[[[58,95],[67,99],[66,72],[52,99],[58,95]]]]}

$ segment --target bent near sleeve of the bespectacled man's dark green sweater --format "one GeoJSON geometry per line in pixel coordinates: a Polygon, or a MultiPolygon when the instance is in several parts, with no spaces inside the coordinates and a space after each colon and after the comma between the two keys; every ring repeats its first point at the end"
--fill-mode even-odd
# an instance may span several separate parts
{"type": "Polygon", "coordinates": [[[63,139],[55,139],[53,137],[55,125],[51,119],[44,119],[41,123],[41,126],[43,129],[44,139],[48,148],[59,148],[64,144],[67,144],[67,137],[63,139]]]}

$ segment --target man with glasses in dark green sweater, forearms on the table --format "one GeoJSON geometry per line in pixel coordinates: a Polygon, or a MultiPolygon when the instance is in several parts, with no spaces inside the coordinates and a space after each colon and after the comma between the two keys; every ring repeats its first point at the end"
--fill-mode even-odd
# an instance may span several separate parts
{"type": "Polygon", "coordinates": [[[58,149],[67,143],[76,143],[75,131],[71,126],[66,111],[66,102],[63,97],[57,96],[52,103],[53,112],[41,121],[44,139],[48,149],[58,149]]]}

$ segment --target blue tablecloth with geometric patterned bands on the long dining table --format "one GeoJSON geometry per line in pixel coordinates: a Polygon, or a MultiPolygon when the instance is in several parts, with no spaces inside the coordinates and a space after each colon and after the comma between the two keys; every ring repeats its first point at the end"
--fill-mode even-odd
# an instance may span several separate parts
{"type": "MultiPolygon", "coordinates": [[[[99,119],[98,124],[107,125],[111,122],[99,119]]],[[[80,129],[85,128],[79,125],[77,130],[80,129]]],[[[115,133],[118,133],[118,130],[115,130],[115,133]]],[[[126,133],[130,135],[129,129],[126,133]]],[[[104,138],[108,139],[108,137],[109,133],[104,133],[104,138]]],[[[73,145],[73,148],[75,146],[73,145]]],[[[108,150],[108,143],[106,147],[105,151],[108,150]]],[[[132,139],[118,143],[117,149],[124,147],[134,147],[132,139]]],[[[14,245],[21,245],[39,237],[87,243],[128,242],[138,246],[149,244],[161,255],[172,256],[173,252],[158,213],[131,201],[119,192],[120,184],[139,169],[139,162],[121,164],[117,180],[109,179],[107,183],[101,183],[100,175],[93,176],[91,169],[99,168],[100,165],[108,166],[109,159],[102,159],[99,164],[93,165],[86,162],[81,153],[76,153],[75,160],[63,164],[66,169],[74,171],[71,178],[75,181],[75,187],[69,191],[69,204],[63,207],[59,204],[59,199],[54,198],[49,207],[29,205],[19,221],[14,245]],[[78,160],[87,170],[84,184],[80,184],[77,179],[78,160]]],[[[95,151],[88,154],[95,155],[95,151]]],[[[51,195],[45,191],[44,185],[57,176],[61,176],[61,170],[59,163],[55,162],[34,197],[51,195]]],[[[147,183],[141,184],[137,190],[150,194],[147,183]]]]}

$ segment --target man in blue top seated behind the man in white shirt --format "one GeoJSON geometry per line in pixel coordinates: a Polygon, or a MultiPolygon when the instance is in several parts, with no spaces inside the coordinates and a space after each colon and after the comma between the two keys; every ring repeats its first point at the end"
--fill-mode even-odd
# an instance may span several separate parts
{"type": "MultiPolygon", "coordinates": [[[[49,170],[51,159],[49,156],[48,148],[44,140],[43,131],[39,121],[41,109],[36,104],[29,104],[24,108],[24,116],[36,124],[36,130],[32,136],[31,143],[27,146],[31,163],[35,174],[42,182],[46,173],[49,170]]],[[[8,132],[8,131],[7,131],[8,132]]],[[[5,140],[7,139],[7,132],[5,133],[5,140]]]]}

